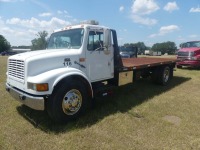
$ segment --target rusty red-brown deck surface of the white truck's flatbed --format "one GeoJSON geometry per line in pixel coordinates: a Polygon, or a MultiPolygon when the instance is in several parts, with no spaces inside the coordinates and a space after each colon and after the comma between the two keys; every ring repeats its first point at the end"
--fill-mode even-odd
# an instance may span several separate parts
{"type": "Polygon", "coordinates": [[[149,58],[149,57],[139,57],[139,58],[123,58],[122,64],[124,68],[142,69],[147,67],[159,66],[163,64],[175,63],[174,58],[149,58]]]}

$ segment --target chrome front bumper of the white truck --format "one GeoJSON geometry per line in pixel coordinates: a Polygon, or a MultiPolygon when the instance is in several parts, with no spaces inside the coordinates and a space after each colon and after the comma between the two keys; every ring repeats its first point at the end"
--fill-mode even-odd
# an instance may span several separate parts
{"type": "Polygon", "coordinates": [[[9,84],[6,84],[6,90],[17,101],[20,101],[21,103],[32,109],[44,110],[45,108],[44,98],[42,96],[29,95],[27,93],[17,90],[16,88],[11,87],[9,84]]]}

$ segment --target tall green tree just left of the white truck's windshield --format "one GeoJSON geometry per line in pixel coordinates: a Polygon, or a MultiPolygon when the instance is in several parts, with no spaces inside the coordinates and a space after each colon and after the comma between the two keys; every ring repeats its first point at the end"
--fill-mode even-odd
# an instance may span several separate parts
{"type": "Polygon", "coordinates": [[[31,49],[32,50],[45,49],[46,44],[47,44],[47,36],[48,36],[47,31],[38,32],[38,34],[36,34],[36,35],[38,36],[38,38],[35,38],[31,41],[31,43],[32,43],[31,49]]]}

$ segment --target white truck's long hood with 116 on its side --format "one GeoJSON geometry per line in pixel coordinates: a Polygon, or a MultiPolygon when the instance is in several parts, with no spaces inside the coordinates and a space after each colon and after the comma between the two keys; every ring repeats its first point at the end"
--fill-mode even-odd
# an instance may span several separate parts
{"type": "Polygon", "coordinates": [[[21,53],[9,57],[25,64],[26,76],[35,76],[57,68],[79,68],[79,49],[52,49],[21,53]]]}

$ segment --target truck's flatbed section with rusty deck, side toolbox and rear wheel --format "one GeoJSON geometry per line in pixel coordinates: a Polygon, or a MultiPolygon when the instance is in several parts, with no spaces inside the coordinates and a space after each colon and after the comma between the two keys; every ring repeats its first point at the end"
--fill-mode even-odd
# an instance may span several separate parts
{"type": "Polygon", "coordinates": [[[122,58],[121,66],[115,70],[115,85],[133,83],[150,77],[154,83],[167,85],[173,77],[176,59],[173,58],[122,58]]]}

